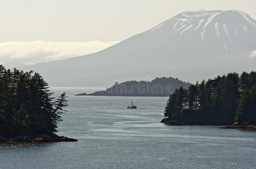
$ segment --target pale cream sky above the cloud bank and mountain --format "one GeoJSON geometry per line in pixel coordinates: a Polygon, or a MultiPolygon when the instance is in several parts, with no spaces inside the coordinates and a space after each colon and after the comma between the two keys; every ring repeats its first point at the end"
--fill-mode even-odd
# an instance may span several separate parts
{"type": "MultiPolygon", "coordinates": [[[[255,19],[255,6],[255,0],[0,0],[0,42],[103,41],[111,45],[184,11],[241,10],[255,19]]],[[[11,56],[2,52],[0,63],[10,61],[7,57],[11,56]]]]}

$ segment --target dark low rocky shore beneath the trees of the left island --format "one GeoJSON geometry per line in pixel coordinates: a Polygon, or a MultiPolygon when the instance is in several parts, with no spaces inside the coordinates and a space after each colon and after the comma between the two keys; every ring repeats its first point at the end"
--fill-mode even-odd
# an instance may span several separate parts
{"type": "Polygon", "coordinates": [[[50,142],[75,142],[76,139],[69,137],[51,135],[20,135],[3,136],[0,135],[0,143],[50,143],[50,142]]]}

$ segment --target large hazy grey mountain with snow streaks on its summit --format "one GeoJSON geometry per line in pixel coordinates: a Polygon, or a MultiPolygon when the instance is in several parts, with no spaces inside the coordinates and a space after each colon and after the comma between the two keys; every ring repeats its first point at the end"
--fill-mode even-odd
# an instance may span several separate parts
{"type": "Polygon", "coordinates": [[[51,86],[105,85],[146,75],[194,82],[255,70],[253,50],[256,21],[244,12],[186,11],[95,54],[26,69],[44,75],[51,86]]]}

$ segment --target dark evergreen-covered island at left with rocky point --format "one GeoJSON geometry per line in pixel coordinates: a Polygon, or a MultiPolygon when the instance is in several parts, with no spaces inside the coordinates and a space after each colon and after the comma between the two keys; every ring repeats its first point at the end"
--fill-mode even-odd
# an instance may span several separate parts
{"type": "Polygon", "coordinates": [[[0,143],[77,141],[54,134],[67,96],[54,98],[48,88],[39,73],[0,65],[0,143]]]}

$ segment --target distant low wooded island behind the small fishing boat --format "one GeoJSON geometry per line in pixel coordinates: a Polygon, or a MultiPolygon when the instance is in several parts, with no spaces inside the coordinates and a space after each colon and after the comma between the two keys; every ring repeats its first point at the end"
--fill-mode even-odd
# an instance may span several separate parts
{"type": "Polygon", "coordinates": [[[162,77],[152,81],[127,81],[114,83],[105,91],[97,91],[92,94],[78,94],[76,96],[169,96],[176,88],[188,88],[190,83],[178,78],[162,77]]]}

